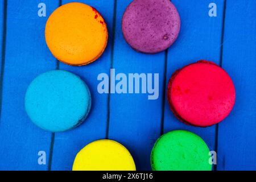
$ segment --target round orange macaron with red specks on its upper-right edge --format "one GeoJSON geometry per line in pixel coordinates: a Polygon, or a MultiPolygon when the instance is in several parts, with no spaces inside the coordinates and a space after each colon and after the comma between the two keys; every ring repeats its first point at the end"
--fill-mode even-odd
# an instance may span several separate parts
{"type": "Polygon", "coordinates": [[[108,42],[108,29],[96,9],[73,2],[53,11],[46,23],[45,36],[57,60],[81,66],[102,55],[108,42]]]}

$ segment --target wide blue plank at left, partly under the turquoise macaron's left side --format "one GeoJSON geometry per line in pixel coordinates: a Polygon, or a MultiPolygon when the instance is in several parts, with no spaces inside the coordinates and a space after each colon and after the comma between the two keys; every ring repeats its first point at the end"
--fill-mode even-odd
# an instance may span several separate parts
{"type": "MultiPolygon", "coordinates": [[[[2,85],[0,122],[0,169],[45,170],[38,164],[38,152],[48,159],[51,133],[35,126],[24,110],[27,86],[40,73],[55,69],[47,52],[44,26],[47,17],[38,16],[38,4],[47,5],[47,15],[57,7],[51,0],[9,0],[7,3],[6,56],[2,85]]],[[[2,12],[2,11],[1,11],[2,12]]]]}

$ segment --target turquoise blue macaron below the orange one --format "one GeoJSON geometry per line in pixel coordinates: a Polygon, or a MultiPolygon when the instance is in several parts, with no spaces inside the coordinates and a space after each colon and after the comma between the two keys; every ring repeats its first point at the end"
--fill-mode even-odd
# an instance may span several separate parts
{"type": "Polygon", "coordinates": [[[40,128],[60,132],[85,121],[91,107],[88,86],[73,73],[55,70],[36,77],[27,88],[25,109],[40,128]]]}

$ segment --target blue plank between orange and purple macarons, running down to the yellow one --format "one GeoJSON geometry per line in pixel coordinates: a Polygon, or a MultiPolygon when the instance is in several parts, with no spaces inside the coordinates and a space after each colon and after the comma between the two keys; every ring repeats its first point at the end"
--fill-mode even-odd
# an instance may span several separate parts
{"type": "MultiPolygon", "coordinates": [[[[68,2],[73,1],[64,0],[63,4],[68,2]]],[[[65,133],[55,134],[51,168],[53,170],[71,170],[77,152],[86,144],[97,139],[104,139],[106,136],[108,94],[99,94],[97,92],[97,77],[100,73],[109,74],[110,72],[114,0],[86,0],[78,2],[93,6],[101,13],[108,26],[109,42],[104,54],[92,64],[83,67],[71,67],[60,63],[60,69],[79,75],[88,84],[92,94],[92,109],[88,118],[81,126],[65,133]]]]}

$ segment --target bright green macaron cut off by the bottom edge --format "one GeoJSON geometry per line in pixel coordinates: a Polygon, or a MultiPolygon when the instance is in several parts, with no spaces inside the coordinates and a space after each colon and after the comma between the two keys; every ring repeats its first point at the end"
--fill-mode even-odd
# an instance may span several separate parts
{"type": "Polygon", "coordinates": [[[176,130],[160,137],[151,152],[154,171],[210,171],[209,148],[196,134],[176,130]]]}

